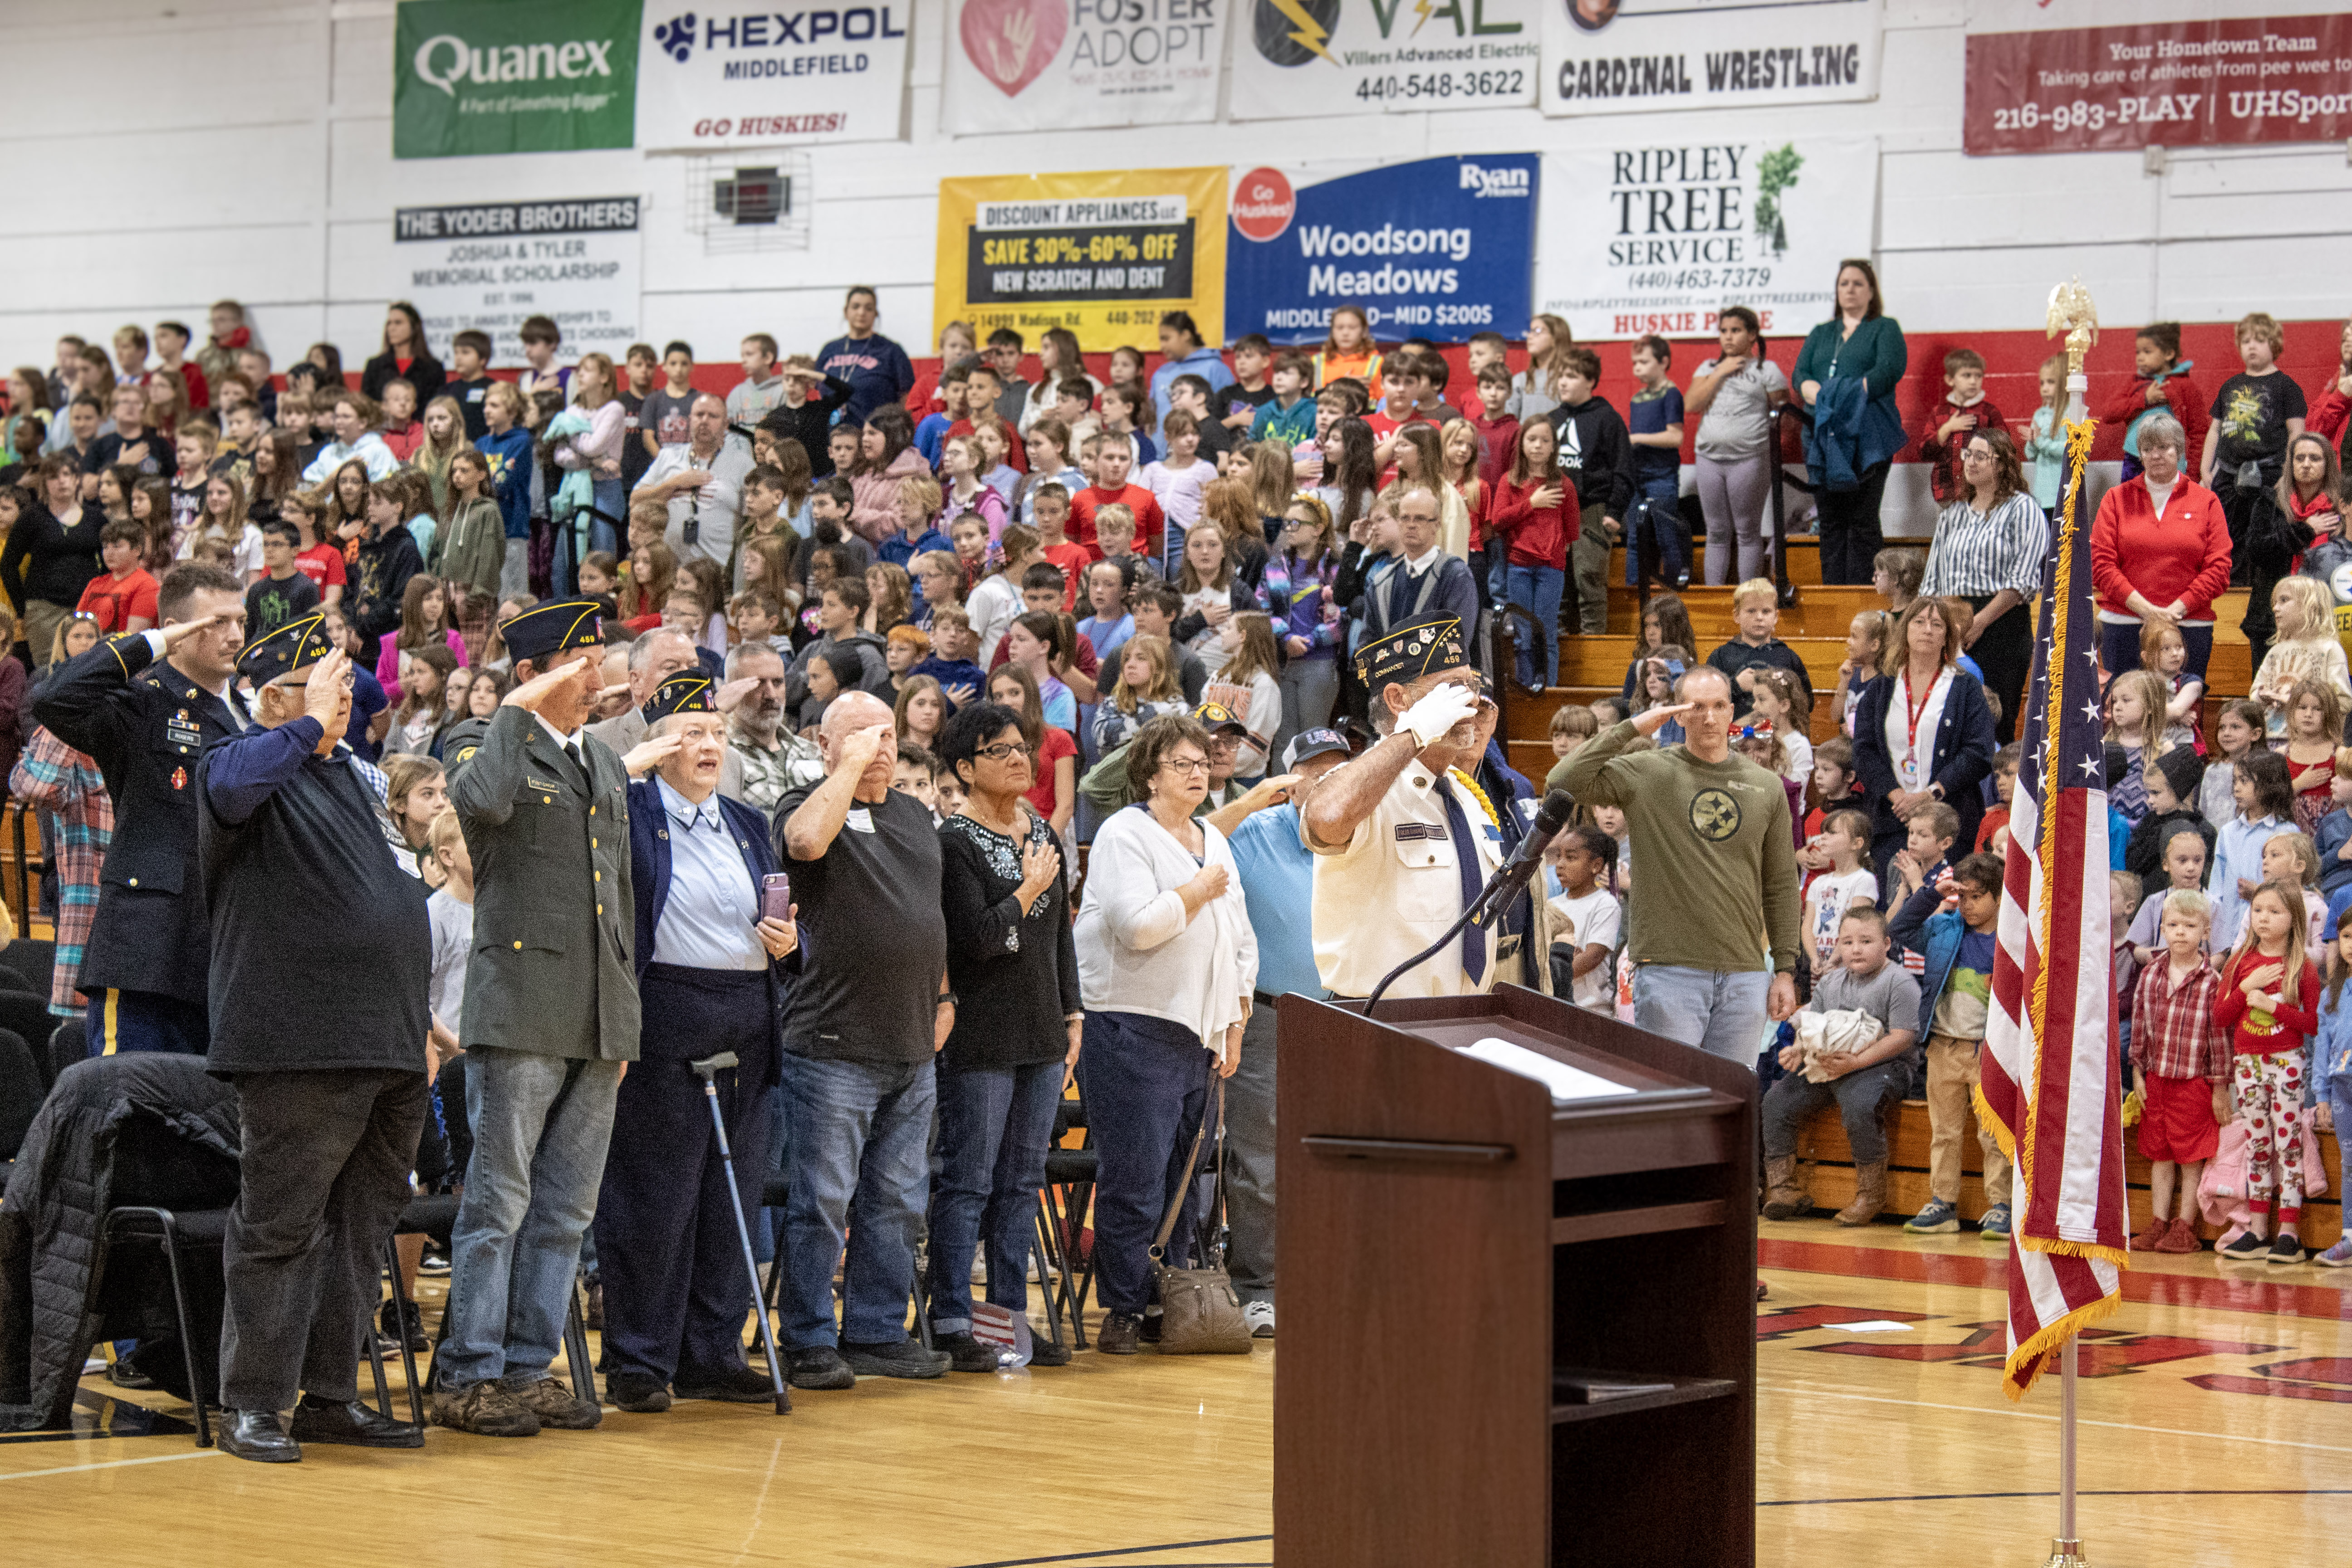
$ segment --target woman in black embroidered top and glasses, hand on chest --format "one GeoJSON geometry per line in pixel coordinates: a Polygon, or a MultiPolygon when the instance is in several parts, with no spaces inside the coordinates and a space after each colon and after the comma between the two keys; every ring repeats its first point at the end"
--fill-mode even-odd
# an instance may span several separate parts
{"type": "MultiPolygon", "coordinates": [[[[931,1342],[955,1371],[993,1373],[997,1352],[971,1335],[971,1253],[988,1248],[990,1305],[1028,1312],[1037,1190],[1084,1011],[1061,851],[1044,818],[1021,809],[1033,785],[1021,715],[1002,703],[957,708],[938,757],[964,804],[938,825],[957,1023],[938,1053],[931,1342]]],[[[1047,1342],[1030,1354],[1033,1366],[1068,1359],[1047,1342]]]]}

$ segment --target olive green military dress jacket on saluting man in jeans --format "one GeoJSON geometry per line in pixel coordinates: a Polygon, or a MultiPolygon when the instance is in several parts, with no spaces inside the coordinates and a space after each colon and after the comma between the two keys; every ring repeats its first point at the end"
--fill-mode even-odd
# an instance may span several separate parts
{"type": "Polygon", "coordinates": [[[452,780],[473,853],[463,1044],[637,1060],[628,773],[581,731],[583,780],[524,708],[499,708],[452,780]]]}

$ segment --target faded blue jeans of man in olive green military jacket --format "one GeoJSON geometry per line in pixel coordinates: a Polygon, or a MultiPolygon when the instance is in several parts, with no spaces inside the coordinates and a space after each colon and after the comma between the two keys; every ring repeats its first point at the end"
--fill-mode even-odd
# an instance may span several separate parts
{"type": "Polygon", "coordinates": [[[473,1159],[449,1237],[449,1387],[548,1375],[595,1218],[621,1063],[475,1046],[473,1159]]]}

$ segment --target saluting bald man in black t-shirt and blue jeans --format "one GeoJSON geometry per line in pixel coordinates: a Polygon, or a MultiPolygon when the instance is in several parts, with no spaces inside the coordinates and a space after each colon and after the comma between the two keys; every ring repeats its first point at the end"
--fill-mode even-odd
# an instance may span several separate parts
{"type": "Polygon", "coordinates": [[[783,1016],[793,1197],[783,1211],[783,1342],[793,1387],[858,1373],[938,1378],[948,1356],[906,1335],[915,1234],[929,1199],[938,1084],[955,1027],[938,835],[889,788],[891,710],[844,691],[821,731],[826,783],[776,802],[776,851],[800,905],[802,971],[783,1016]],[[833,1324],[833,1265],[858,1225],[833,1324]]]}

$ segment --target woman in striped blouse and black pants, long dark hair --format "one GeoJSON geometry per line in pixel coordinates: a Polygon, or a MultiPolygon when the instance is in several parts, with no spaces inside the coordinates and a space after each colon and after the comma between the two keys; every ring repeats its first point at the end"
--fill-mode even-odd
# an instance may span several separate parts
{"type": "Polygon", "coordinates": [[[2025,491],[2025,463],[2006,430],[1978,430],[1959,454],[1962,496],[1936,520],[1922,595],[1966,599],[1976,618],[1962,632],[1985,691],[2002,701],[1992,731],[2009,745],[2034,661],[2034,614],[2049,524],[2025,491]]]}

